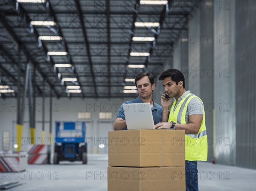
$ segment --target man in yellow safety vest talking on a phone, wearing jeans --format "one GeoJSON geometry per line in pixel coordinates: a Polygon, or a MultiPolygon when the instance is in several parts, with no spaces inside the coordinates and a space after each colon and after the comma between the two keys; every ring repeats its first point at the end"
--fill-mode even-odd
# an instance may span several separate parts
{"type": "Polygon", "coordinates": [[[197,161],[207,160],[207,132],[202,100],[185,90],[181,71],[169,69],[159,77],[165,88],[161,97],[162,123],[156,128],[185,130],[186,191],[198,191],[197,161]],[[168,96],[166,95],[168,94],[168,96]],[[172,98],[175,98],[172,104],[172,98]],[[172,104],[171,109],[169,109],[172,104]]]}

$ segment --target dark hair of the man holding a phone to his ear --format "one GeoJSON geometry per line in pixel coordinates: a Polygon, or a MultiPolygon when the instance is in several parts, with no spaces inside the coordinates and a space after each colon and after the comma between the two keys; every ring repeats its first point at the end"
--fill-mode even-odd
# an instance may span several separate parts
{"type": "Polygon", "coordinates": [[[158,79],[164,80],[166,77],[171,77],[171,80],[175,81],[177,85],[178,85],[178,82],[182,81],[183,88],[185,88],[185,78],[184,78],[184,75],[181,73],[181,71],[177,69],[166,70],[160,75],[158,79]]]}

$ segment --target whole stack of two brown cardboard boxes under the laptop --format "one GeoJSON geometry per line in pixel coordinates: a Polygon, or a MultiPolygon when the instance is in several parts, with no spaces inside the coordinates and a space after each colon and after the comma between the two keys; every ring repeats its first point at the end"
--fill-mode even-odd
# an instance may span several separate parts
{"type": "Polygon", "coordinates": [[[108,191],[185,191],[185,131],[108,132],[108,191]]]}

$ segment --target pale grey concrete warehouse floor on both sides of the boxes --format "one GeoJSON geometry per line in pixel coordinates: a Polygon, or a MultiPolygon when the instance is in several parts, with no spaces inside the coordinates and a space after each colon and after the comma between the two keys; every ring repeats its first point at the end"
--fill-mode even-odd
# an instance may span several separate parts
{"type": "MultiPolygon", "coordinates": [[[[28,165],[20,173],[0,173],[0,184],[19,181],[10,191],[107,191],[108,155],[89,155],[88,164],[28,165]]],[[[201,191],[256,191],[256,170],[198,163],[201,191]]]]}

